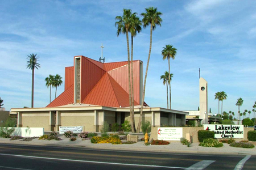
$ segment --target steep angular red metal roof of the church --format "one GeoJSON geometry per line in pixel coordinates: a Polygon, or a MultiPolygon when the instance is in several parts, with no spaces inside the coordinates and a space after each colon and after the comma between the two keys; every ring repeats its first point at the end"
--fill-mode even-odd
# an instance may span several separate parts
{"type": "MultiPolygon", "coordinates": [[[[129,107],[127,61],[101,63],[84,56],[76,57],[81,57],[81,103],[106,107],[129,107]]],[[[139,60],[133,61],[134,105],[139,105],[140,103],[141,68],[139,63],[139,60]]],[[[65,67],[65,91],[47,107],[75,103],[74,78],[75,66],[65,67]]]]}

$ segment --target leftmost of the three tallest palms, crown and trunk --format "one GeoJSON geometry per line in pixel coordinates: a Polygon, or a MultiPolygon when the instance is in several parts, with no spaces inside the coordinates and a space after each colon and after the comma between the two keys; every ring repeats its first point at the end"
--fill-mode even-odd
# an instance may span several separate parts
{"type": "Polygon", "coordinates": [[[130,9],[123,9],[123,16],[116,16],[115,20],[115,27],[117,27],[117,36],[120,33],[126,34],[126,44],[127,44],[127,58],[128,58],[128,82],[129,82],[129,104],[130,104],[130,121],[131,121],[131,131],[135,132],[135,122],[134,122],[134,115],[132,112],[131,107],[131,69],[130,69],[130,48],[129,48],[129,36],[128,32],[130,29],[130,18],[131,18],[131,10],[130,9]]]}

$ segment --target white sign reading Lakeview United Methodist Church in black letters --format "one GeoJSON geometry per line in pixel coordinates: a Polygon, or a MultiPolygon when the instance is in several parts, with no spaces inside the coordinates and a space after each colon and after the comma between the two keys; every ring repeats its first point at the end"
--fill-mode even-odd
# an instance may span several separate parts
{"type": "Polygon", "coordinates": [[[204,130],[214,131],[215,138],[243,138],[243,125],[204,125],[204,130]]]}

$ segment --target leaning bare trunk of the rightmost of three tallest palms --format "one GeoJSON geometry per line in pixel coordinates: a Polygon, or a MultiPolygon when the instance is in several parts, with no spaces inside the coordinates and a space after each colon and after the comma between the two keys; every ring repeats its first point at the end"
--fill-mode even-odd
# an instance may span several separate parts
{"type": "Polygon", "coordinates": [[[139,131],[141,131],[141,121],[142,121],[143,105],[144,105],[145,90],[146,90],[147,70],[148,70],[148,65],[149,65],[149,61],[150,61],[151,46],[152,46],[152,31],[153,31],[152,28],[153,28],[152,24],[150,24],[150,49],[149,49],[149,52],[148,52],[147,67],[146,67],[146,73],[145,73],[144,84],[143,84],[141,113],[139,114],[139,122],[138,122],[138,126],[137,126],[137,129],[136,129],[137,133],[139,133],[139,131]]]}

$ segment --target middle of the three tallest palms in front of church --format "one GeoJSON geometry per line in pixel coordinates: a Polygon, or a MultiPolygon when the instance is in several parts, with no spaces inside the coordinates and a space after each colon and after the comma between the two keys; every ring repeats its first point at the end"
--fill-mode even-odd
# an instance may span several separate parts
{"type": "MultiPolygon", "coordinates": [[[[137,33],[141,32],[141,25],[142,25],[142,22],[137,16],[137,13],[134,12],[133,14],[131,14],[129,32],[131,33],[131,112],[133,114],[133,117],[134,117],[133,38],[137,35],[137,33]]],[[[134,128],[135,128],[135,122],[134,122],[134,128]]]]}

